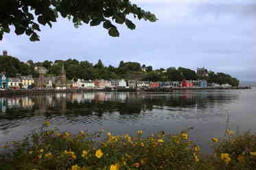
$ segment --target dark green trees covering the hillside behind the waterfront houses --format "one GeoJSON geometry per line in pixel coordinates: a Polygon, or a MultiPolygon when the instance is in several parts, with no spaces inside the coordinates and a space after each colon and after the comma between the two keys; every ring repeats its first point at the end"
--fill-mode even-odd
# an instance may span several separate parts
{"type": "Polygon", "coordinates": [[[78,61],[76,59],[67,59],[65,61],[56,60],[36,62],[29,60],[27,63],[19,61],[19,59],[11,56],[0,55],[0,71],[5,71],[8,76],[15,76],[17,73],[22,75],[32,74],[37,77],[38,74],[34,71],[35,66],[43,66],[47,68],[46,76],[58,76],[61,66],[64,64],[68,79],[133,79],[141,81],[182,81],[206,79],[209,83],[229,83],[233,86],[238,86],[239,81],[229,74],[222,72],[209,72],[208,77],[198,77],[194,70],[188,68],[174,68],[153,70],[152,66],[141,65],[137,62],[120,61],[119,66],[104,66],[101,60],[93,64],[89,61],[78,61]],[[29,63],[29,64],[27,64],[29,63]],[[143,71],[146,68],[146,71],[143,71]]]}

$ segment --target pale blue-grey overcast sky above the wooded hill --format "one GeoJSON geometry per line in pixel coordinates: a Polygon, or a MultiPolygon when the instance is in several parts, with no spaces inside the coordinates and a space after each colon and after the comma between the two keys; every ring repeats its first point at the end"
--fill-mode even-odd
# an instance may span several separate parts
{"type": "Polygon", "coordinates": [[[0,50],[23,61],[75,58],[105,65],[137,61],[156,68],[205,67],[243,81],[256,81],[255,0],[133,0],[156,14],[156,23],[137,21],[131,31],[119,26],[120,37],[108,36],[102,26],[75,29],[58,19],[42,27],[40,42],[5,34],[0,50]]]}

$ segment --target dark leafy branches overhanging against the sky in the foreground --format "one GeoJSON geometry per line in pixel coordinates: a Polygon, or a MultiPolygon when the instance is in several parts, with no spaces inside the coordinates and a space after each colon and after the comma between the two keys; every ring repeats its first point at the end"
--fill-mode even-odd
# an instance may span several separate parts
{"type": "Polygon", "coordinates": [[[127,18],[130,14],[139,20],[156,21],[154,14],[142,10],[129,0],[1,0],[0,40],[3,39],[3,33],[10,33],[12,25],[16,35],[25,33],[31,41],[38,41],[40,25],[51,27],[58,16],[69,18],[75,27],[82,23],[91,26],[103,23],[109,35],[116,37],[119,32],[114,23],[125,23],[129,29],[135,29],[135,24],[127,18]]]}

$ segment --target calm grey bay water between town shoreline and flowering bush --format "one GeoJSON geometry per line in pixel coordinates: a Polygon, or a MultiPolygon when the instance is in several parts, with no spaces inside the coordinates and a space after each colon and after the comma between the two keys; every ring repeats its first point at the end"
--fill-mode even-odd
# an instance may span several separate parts
{"type": "Polygon", "coordinates": [[[181,132],[203,149],[231,130],[256,131],[256,89],[178,91],[173,94],[78,93],[0,98],[0,145],[21,139],[49,120],[60,130],[113,134],[181,132]]]}

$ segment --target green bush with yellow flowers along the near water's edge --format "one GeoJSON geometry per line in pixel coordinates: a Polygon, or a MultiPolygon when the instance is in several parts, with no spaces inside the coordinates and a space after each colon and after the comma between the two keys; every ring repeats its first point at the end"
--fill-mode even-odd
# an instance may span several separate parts
{"type": "Polygon", "coordinates": [[[104,131],[70,134],[45,130],[45,126],[22,141],[5,145],[0,169],[256,169],[256,138],[250,133],[213,139],[216,153],[208,157],[200,154],[187,132],[143,137],[138,131],[133,136],[113,136],[104,131]]]}

